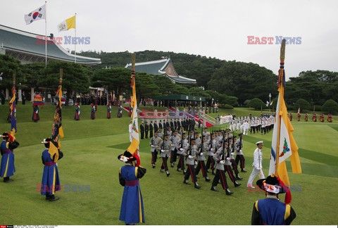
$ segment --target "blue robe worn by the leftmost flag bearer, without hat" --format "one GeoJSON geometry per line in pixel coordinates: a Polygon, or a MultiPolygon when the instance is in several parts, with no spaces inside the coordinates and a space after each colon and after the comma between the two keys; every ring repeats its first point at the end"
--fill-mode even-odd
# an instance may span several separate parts
{"type": "Polygon", "coordinates": [[[14,175],[15,166],[14,166],[14,153],[9,147],[10,142],[2,141],[1,148],[1,167],[0,167],[0,177],[11,177],[14,175]]]}

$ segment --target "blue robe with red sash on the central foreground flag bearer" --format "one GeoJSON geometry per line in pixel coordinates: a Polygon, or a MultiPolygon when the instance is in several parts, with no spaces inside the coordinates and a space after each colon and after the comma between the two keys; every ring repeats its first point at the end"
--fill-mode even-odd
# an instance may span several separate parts
{"type": "Polygon", "coordinates": [[[120,184],[125,186],[121,203],[120,220],[125,221],[125,224],[145,222],[143,200],[139,186],[139,178],[141,178],[145,172],[146,170],[143,167],[134,167],[132,165],[125,165],[120,168],[120,184]]]}

